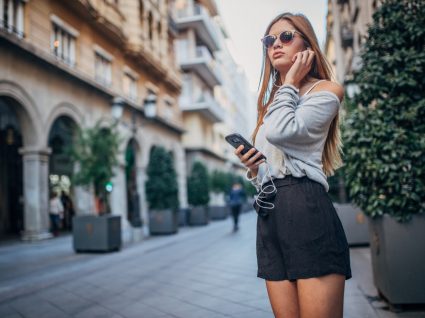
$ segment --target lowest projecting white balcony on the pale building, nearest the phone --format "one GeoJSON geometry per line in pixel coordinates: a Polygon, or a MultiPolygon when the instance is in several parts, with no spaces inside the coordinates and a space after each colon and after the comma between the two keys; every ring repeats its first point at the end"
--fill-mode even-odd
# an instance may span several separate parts
{"type": "Polygon", "coordinates": [[[202,116],[212,123],[224,120],[224,110],[217,103],[210,93],[204,92],[197,100],[181,99],[180,108],[182,111],[199,111],[202,116]]]}

